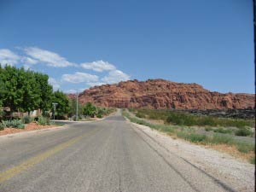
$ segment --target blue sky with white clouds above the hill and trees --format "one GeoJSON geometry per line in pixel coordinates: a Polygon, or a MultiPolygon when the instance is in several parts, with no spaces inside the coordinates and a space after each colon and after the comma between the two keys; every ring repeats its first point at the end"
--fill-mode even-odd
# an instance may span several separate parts
{"type": "Polygon", "coordinates": [[[251,0],[0,0],[0,62],[73,92],[127,79],[254,92],[251,0]]]}

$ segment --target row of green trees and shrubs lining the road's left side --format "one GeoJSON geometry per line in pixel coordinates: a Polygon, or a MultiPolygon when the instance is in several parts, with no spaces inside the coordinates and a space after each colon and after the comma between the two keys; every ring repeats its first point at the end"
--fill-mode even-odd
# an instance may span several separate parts
{"type": "MultiPolygon", "coordinates": [[[[102,118],[113,108],[99,108],[79,103],[79,119],[102,118]]],[[[21,67],[0,64],[0,131],[4,128],[25,129],[26,125],[51,125],[50,119],[73,119],[76,100],[61,90],[53,90],[49,77],[21,67]],[[52,103],[57,103],[53,108],[52,103]],[[37,110],[36,116],[32,113],[37,110]]]]}

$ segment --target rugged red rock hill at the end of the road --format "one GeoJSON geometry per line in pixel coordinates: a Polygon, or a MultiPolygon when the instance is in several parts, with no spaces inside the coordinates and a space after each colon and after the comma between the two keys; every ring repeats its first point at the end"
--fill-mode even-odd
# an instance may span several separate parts
{"type": "Polygon", "coordinates": [[[223,94],[206,90],[199,84],[148,79],[95,86],[80,93],[79,102],[115,108],[238,109],[254,108],[254,95],[223,94]]]}

